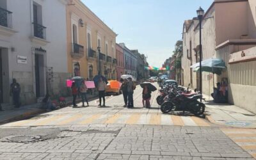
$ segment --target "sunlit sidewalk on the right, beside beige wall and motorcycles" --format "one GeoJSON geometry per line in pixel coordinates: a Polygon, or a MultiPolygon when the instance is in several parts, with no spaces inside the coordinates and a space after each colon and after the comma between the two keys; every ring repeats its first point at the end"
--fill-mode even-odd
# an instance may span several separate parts
{"type": "Polygon", "coordinates": [[[204,95],[205,118],[218,125],[231,127],[256,128],[256,115],[246,109],[231,104],[214,103],[212,97],[204,95]]]}

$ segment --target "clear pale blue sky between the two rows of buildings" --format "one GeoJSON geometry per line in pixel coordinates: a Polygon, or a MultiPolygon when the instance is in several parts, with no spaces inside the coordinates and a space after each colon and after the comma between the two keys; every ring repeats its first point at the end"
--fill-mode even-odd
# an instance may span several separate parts
{"type": "Polygon", "coordinates": [[[149,65],[161,67],[182,39],[184,20],[196,17],[199,6],[206,11],[213,0],[82,0],[118,34],[116,43],[138,49],[149,65]]]}

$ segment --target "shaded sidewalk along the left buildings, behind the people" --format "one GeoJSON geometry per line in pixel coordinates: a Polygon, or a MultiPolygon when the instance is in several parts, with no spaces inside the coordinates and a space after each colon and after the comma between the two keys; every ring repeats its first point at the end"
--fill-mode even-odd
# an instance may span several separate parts
{"type": "MultiPolygon", "coordinates": [[[[98,95],[90,95],[87,94],[88,99],[93,99],[98,95]]],[[[67,106],[72,104],[72,97],[65,97],[67,106]]],[[[77,102],[81,102],[81,98],[77,98],[77,102]]],[[[13,120],[21,120],[24,118],[28,118],[29,116],[33,116],[39,113],[46,112],[45,109],[41,108],[41,103],[30,104],[26,106],[21,106],[20,108],[14,108],[10,110],[0,111],[0,124],[4,124],[6,122],[11,122],[13,120]]]]}

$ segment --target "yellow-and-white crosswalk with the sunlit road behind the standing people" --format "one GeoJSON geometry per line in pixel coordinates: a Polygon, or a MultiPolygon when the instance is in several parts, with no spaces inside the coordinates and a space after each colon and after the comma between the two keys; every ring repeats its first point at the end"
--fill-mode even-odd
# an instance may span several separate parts
{"type": "MultiPolygon", "coordinates": [[[[157,86],[157,84],[155,83],[157,86]]],[[[211,126],[204,118],[193,115],[180,116],[179,113],[164,115],[156,103],[158,92],[152,93],[152,108],[142,105],[142,88],[136,87],[134,92],[134,109],[124,108],[122,95],[107,97],[106,108],[97,107],[97,100],[87,108],[67,107],[35,116],[28,120],[20,120],[4,126],[38,126],[38,125],[70,125],[70,124],[150,124],[150,125],[180,125],[180,126],[211,126]]],[[[81,106],[81,103],[79,104],[81,106]]]]}

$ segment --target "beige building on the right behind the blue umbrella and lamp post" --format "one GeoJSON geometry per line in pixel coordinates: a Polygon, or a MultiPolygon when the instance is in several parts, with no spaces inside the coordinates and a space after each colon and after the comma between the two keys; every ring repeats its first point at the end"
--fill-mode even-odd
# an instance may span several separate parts
{"type": "MultiPolygon", "coordinates": [[[[256,1],[215,0],[202,22],[202,58],[221,58],[227,70],[214,76],[228,79],[228,101],[256,113],[256,1]],[[243,55],[241,56],[243,52],[243,55]]],[[[199,87],[198,74],[189,67],[199,61],[198,19],[185,20],[183,27],[182,78],[199,87]]],[[[213,75],[203,72],[203,92],[212,93],[213,75]]]]}

